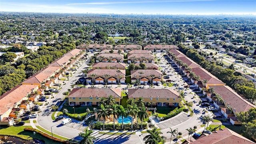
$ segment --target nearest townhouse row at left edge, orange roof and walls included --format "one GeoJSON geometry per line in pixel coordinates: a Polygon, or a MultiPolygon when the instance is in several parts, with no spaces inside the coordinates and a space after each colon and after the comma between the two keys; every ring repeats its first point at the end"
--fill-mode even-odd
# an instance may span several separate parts
{"type": "MultiPolygon", "coordinates": [[[[2,122],[2,120],[4,120],[4,122],[6,122],[4,118],[9,120],[9,117],[16,118],[14,111],[17,110],[19,115],[23,114],[25,108],[23,106],[19,107],[18,105],[20,105],[23,100],[27,100],[28,98],[26,96],[32,91],[38,90],[38,88],[39,86],[34,84],[18,85],[3,94],[0,97],[0,121],[2,122]]],[[[1,122],[0,124],[2,124],[1,122]]]]}

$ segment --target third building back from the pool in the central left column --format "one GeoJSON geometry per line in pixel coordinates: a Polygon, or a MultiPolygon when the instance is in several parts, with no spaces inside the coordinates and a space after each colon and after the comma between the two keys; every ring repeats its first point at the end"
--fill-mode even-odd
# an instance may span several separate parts
{"type": "Polygon", "coordinates": [[[126,64],[121,62],[98,62],[92,65],[92,69],[119,69],[125,70],[126,64]]]}

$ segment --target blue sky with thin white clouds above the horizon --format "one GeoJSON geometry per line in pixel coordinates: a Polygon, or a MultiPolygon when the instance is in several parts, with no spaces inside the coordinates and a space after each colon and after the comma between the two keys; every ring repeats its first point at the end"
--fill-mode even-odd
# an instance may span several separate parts
{"type": "Polygon", "coordinates": [[[0,12],[256,15],[256,0],[0,0],[0,12]]]}

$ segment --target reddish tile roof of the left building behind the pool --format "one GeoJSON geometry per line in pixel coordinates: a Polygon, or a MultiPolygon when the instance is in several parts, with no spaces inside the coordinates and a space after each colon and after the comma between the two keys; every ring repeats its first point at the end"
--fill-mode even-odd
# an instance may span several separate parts
{"type": "Polygon", "coordinates": [[[68,98],[105,97],[112,95],[114,98],[121,97],[120,88],[74,88],[68,98]]]}

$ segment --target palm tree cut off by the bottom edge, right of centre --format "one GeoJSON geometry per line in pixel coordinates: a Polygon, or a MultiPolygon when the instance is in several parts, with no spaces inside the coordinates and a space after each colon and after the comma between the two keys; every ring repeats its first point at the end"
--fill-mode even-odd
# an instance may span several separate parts
{"type": "Polygon", "coordinates": [[[160,136],[160,134],[163,134],[161,131],[157,131],[156,127],[154,127],[152,130],[147,130],[149,135],[145,136],[143,140],[145,141],[145,144],[164,144],[166,137],[160,136]]]}

